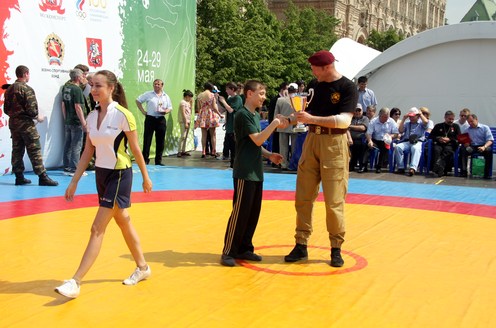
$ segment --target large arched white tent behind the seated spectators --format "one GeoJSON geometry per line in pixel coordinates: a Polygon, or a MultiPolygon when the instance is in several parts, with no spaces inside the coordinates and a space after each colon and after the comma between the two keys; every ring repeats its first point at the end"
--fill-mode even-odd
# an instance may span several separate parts
{"type": "Polygon", "coordinates": [[[447,25],[396,44],[355,76],[369,77],[379,107],[425,106],[435,123],[469,108],[496,126],[495,54],[496,22],[447,25]]]}

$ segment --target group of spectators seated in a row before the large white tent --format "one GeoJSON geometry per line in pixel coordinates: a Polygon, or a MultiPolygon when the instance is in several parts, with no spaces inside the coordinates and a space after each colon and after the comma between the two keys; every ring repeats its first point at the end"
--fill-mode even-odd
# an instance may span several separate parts
{"type": "Polygon", "coordinates": [[[358,79],[357,89],[359,102],[349,127],[350,171],[364,173],[374,168],[382,173],[389,166],[389,172],[407,176],[427,168],[423,171],[431,177],[491,178],[494,136],[468,108],[461,109],[456,120],[448,110],[444,121],[434,125],[427,107],[412,107],[403,116],[397,107],[382,107],[376,115],[377,98],[367,88],[365,77],[358,79]],[[474,161],[483,169],[470,172],[474,161]]]}

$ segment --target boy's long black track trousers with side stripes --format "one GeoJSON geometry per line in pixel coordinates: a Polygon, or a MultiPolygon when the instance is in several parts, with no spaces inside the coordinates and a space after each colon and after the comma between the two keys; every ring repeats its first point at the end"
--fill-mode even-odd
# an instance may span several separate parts
{"type": "Polygon", "coordinates": [[[233,209],[227,222],[222,254],[236,257],[253,252],[253,235],[262,208],[262,181],[234,179],[233,209]]]}

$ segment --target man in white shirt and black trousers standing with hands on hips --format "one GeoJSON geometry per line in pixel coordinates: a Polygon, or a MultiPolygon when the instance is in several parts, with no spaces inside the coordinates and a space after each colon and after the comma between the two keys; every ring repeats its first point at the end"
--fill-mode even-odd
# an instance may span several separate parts
{"type": "Polygon", "coordinates": [[[165,132],[167,122],[165,114],[172,111],[172,102],[164,92],[164,82],[156,79],[153,81],[153,91],[148,91],[136,99],[136,106],[146,116],[145,131],[143,132],[143,157],[145,163],[150,162],[150,147],[152,145],[153,134],[155,133],[155,165],[165,165],[162,163],[162,153],[165,147],[165,132]],[[143,108],[146,103],[146,110],[143,108]]]}

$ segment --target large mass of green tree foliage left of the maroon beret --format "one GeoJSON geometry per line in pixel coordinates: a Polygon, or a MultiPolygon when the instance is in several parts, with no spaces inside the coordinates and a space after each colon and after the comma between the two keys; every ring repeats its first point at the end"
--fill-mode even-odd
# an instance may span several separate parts
{"type": "Polygon", "coordinates": [[[259,79],[269,94],[283,82],[309,81],[307,58],[330,49],[338,20],[290,3],[281,22],[264,0],[200,0],[197,3],[196,88],[206,81],[259,79]]]}

